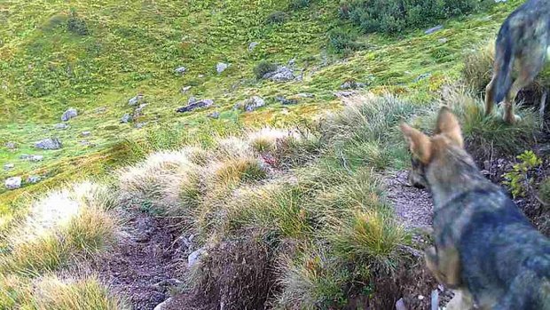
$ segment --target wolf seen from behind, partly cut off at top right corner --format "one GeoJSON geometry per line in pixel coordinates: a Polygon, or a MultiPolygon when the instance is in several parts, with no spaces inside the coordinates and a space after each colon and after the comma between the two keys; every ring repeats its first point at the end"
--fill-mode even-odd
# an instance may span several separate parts
{"type": "Polygon", "coordinates": [[[515,96],[544,68],[550,45],[550,0],[529,0],[504,20],[495,45],[491,82],[485,89],[485,114],[504,100],[504,120],[515,123],[515,96]],[[514,67],[519,69],[513,81],[514,67]]]}

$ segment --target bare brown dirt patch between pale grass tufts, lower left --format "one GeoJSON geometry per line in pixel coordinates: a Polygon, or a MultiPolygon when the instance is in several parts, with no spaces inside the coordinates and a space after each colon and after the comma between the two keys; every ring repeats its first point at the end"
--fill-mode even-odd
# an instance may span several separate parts
{"type": "Polygon", "coordinates": [[[187,263],[187,247],[179,242],[169,219],[132,213],[114,250],[97,266],[101,279],[132,309],[151,310],[169,298],[187,263]]]}

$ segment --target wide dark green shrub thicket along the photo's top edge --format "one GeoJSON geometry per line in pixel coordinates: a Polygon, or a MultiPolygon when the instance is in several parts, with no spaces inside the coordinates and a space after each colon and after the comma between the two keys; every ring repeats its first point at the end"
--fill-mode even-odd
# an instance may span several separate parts
{"type": "Polygon", "coordinates": [[[366,33],[395,34],[474,12],[479,0],[350,0],[340,6],[340,15],[366,33]]]}

